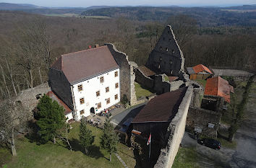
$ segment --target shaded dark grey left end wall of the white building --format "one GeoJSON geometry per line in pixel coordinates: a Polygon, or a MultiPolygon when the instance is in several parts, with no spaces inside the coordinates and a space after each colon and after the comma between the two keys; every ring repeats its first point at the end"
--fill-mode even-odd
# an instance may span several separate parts
{"type": "Polygon", "coordinates": [[[74,110],[72,92],[70,89],[69,81],[62,71],[58,71],[54,68],[50,68],[49,85],[51,90],[71,109],[74,110]]]}

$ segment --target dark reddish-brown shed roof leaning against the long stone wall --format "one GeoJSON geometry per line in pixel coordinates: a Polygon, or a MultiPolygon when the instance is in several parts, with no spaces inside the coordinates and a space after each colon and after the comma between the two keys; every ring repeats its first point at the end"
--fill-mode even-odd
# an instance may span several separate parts
{"type": "Polygon", "coordinates": [[[132,123],[168,122],[178,112],[187,87],[161,94],[148,102],[132,123]]]}

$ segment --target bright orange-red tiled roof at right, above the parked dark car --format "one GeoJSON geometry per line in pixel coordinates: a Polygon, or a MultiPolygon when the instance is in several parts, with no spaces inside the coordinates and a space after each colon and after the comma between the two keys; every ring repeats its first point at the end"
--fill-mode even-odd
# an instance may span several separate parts
{"type": "Polygon", "coordinates": [[[220,96],[223,97],[226,102],[230,102],[230,92],[234,92],[234,88],[229,85],[229,81],[226,81],[220,76],[207,79],[205,95],[220,96]]]}

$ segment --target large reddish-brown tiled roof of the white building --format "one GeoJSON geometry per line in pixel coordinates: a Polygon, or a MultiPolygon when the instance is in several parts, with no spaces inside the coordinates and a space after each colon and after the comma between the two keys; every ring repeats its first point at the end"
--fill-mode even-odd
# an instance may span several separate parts
{"type": "Polygon", "coordinates": [[[51,68],[63,71],[69,83],[119,68],[106,45],[61,55],[51,68]]]}

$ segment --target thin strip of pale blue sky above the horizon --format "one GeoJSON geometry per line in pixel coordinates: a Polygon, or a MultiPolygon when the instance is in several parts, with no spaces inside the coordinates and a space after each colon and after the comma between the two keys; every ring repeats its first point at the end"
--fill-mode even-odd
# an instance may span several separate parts
{"type": "Polygon", "coordinates": [[[234,6],[256,4],[256,0],[6,0],[14,4],[34,4],[47,7],[88,7],[88,6],[234,6]]]}

